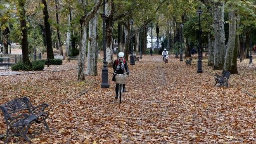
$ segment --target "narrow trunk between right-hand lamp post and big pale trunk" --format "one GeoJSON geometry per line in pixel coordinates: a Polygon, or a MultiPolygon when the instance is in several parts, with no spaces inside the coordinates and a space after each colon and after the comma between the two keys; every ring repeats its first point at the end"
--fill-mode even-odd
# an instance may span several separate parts
{"type": "Polygon", "coordinates": [[[212,36],[211,33],[208,33],[208,66],[214,65],[214,39],[212,36]]]}

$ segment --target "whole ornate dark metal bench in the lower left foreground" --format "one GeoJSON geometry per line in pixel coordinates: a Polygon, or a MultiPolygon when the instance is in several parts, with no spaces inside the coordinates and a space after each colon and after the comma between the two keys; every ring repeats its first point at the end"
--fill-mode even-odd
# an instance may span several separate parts
{"type": "Polygon", "coordinates": [[[43,123],[49,131],[45,121],[49,116],[49,112],[44,111],[46,107],[48,107],[46,103],[34,107],[27,97],[13,99],[6,104],[0,105],[7,124],[5,143],[12,136],[21,136],[29,142],[26,135],[33,123],[43,123]]]}

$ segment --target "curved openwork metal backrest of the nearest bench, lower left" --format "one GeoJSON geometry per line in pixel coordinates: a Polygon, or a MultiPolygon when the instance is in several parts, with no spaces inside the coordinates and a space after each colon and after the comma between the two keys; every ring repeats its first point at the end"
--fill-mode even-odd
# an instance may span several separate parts
{"type": "Polygon", "coordinates": [[[7,102],[6,104],[0,105],[0,109],[2,109],[2,113],[4,114],[7,123],[17,115],[16,113],[24,110],[31,111],[26,100],[28,100],[26,97],[17,98],[7,102]]]}

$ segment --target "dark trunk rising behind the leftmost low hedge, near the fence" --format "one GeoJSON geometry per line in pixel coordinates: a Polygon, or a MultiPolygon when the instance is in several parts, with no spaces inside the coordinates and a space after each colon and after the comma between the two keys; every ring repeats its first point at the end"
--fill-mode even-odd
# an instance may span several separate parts
{"type": "Polygon", "coordinates": [[[24,64],[31,64],[28,57],[28,35],[26,27],[26,11],[25,11],[25,1],[19,0],[19,21],[21,24],[21,50],[22,50],[22,60],[24,64]]]}

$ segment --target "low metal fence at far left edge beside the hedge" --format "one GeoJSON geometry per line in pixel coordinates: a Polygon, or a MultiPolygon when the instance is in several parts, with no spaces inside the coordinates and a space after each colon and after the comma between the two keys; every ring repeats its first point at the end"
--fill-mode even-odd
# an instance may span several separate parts
{"type": "Polygon", "coordinates": [[[22,54],[0,54],[0,69],[10,68],[19,61],[22,61],[22,54]]]}

